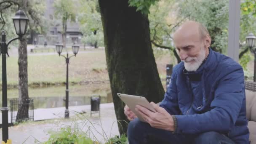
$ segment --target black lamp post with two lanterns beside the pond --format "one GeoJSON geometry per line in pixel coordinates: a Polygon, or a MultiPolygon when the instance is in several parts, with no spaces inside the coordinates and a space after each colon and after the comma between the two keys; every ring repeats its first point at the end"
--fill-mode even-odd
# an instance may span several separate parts
{"type": "MultiPolygon", "coordinates": [[[[63,56],[63,55],[61,55],[62,49],[63,49],[63,45],[59,45],[59,44],[56,45],[56,51],[57,51],[57,53],[59,53],[59,56],[63,56]]],[[[72,45],[72,51],[75,54],[73,56],[77,55],[78,50],[79,50],[79,45],[72,45]]],[[[65,118],[69,118],[69,59],[72,56],[69,57],[69,53],[67,52],[67,57],[66,56],[63,56],[63,57],[66,59],[66,64],[67,64],[65,118]]]]}

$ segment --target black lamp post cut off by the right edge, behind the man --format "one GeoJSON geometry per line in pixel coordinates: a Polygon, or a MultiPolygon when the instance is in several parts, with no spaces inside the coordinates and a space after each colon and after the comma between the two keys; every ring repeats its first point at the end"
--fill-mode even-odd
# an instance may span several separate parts
{"type": "Polygon", "coordinates": [[[247,43],[248,47],[250,48],[250,50],[254,53],[254,75],[253,75],[254,82],[256,81],[256,49],[254,48],[255,39],[256,39],[256,37],[253,35],[253,33],[250,33],[246,37],[246,43],[247,43]]]}

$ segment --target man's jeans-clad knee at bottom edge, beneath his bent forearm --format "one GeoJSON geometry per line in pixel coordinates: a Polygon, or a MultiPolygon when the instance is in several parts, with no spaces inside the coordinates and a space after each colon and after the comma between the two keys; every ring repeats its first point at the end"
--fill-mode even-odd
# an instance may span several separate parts
{"type": "MultiPolygon", "coordinates": [[[[221,144],[221,141],[227,140],[227,144],[229,144],[229,139],[225,139],[224,137],[224,135],[215,131],[205,132],[195,138],[195,144],[221,144]]],[[[230,140],[230,142],[232,141],[230,140]]]]}

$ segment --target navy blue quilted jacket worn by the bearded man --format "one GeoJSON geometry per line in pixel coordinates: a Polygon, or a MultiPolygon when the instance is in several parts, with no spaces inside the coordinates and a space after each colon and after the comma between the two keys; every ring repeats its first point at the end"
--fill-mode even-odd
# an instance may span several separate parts
{"type": "Polygon", "coordinates": [[[175,115],[175,133],[216,131],[237,144],[248,144],[243,69],[231,58],[209,50],[196,72],[186,72],[183,62],[173,68],[160,107],[175,115]]]}

